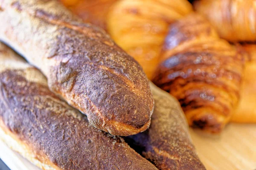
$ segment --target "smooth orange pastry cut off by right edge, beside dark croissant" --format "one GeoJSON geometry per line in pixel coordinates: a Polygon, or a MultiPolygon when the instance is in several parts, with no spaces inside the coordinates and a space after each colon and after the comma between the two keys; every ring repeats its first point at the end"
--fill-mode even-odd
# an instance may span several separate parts
{"type": "Polygon", "coordinates": [[[256,123],[256,44],[242,44],[248,53],[241,83],[240,101],[231,121],[256,123]]]}

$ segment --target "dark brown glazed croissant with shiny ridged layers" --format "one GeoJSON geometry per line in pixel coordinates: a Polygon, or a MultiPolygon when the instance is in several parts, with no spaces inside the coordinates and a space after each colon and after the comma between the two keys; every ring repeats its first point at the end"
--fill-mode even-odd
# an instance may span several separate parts
{"type": "Polygon", "coordinates": [[[239,101],[243,55],[198,14],[170,26],[153,82],[175,96],[189,125],[219,132],[239,101]]]}

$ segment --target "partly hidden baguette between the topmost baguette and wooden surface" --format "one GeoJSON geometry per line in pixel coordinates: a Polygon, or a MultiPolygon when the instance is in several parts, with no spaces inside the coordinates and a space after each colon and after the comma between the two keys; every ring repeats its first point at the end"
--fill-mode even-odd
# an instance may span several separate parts
{"type": "Polygon", "coordinates": [[[155,107],[148,130],[125,137],[160,170],[206,170],[191,142],[188,124],[174,97],[151,83],[155,107]]]}

